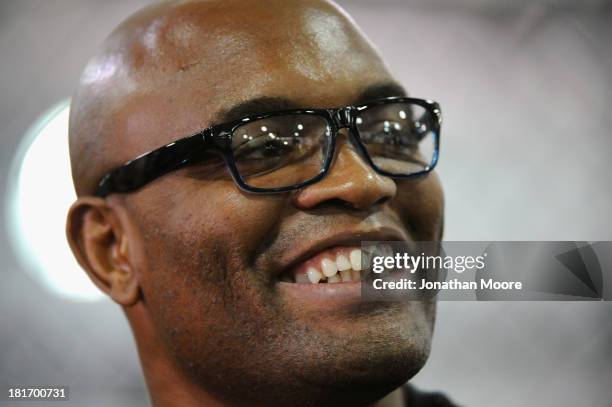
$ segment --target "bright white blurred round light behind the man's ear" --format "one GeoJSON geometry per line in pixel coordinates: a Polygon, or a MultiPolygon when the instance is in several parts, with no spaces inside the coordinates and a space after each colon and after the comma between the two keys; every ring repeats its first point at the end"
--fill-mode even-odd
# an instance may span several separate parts
{"type": "Polygon", "coordinates": [[[70,175],[70,101],[47,111],[26,133],[13,159],[6,196],[8,234],[22,267],[53,294],[95,301],[103,294],[72,256],[65,237],[76,195],[70,175]]]}

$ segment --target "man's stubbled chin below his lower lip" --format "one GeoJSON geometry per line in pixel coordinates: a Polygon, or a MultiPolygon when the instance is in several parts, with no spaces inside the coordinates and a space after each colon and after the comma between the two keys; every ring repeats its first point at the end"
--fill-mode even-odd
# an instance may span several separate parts
{"type": "Polygon", "coordinates": [[[434,312],[432,303],[356,302],[300,318],[295,334],[301,337],[294,339],[304,344],[304,361],[298,372],[305,382],[353,393],[397,388],[429,357],[434,312]]]}

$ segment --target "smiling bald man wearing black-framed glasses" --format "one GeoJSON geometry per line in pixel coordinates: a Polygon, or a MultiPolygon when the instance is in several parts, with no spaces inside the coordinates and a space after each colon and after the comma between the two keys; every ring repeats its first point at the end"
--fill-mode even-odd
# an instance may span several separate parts
{"type": "Polygon", "coordinates": [[[360,295],[361,241],[442,237],[438,115],[327,1],[167,1],[117,27],[72,100],[67,233],[153,405],[448,405],[404,385],[435,303],[360,295]]]}

